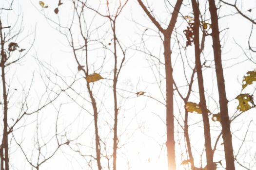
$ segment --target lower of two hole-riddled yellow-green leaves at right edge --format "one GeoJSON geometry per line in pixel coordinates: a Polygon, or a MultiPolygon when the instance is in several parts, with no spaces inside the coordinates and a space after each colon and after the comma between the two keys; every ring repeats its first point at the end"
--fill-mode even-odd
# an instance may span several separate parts
{"type": "Polygon", "coordinates": [[[236,108],[242,112],[255,107],[254,98],[250,94],[239,94],[236,99],[239,101],[236,108]]]}

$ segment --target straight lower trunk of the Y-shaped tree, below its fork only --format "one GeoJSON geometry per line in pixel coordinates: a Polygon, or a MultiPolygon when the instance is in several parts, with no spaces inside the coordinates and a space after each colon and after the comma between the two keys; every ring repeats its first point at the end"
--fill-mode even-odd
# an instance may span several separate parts
{"type": "Polygon", "coordinates": [[[166,148],[168,157],[168,170],[176,170],[175,139],[174,139],[174,113],[173,113],[173,68],[171,63],[171,37],[164,36],[164,62],[166,76],[166,148]]]}

